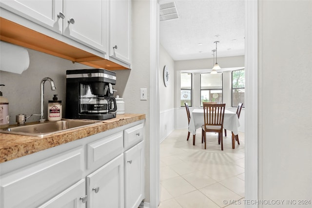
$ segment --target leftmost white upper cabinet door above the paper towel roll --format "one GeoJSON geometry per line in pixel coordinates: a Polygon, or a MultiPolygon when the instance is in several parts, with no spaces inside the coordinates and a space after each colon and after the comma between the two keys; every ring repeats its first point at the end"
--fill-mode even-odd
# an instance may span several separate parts
{"type": "Polygon", "coordinates": [[[62,33],[62,0],[1,0],[2,8],[57,33],[62,33]]]}

